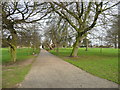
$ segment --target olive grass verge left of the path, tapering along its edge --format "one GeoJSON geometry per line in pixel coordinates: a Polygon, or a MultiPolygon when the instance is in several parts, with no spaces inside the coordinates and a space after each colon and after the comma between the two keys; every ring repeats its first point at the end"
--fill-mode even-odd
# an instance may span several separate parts
{"type": "Polygon", "coordinates": [[[4,84],[2,83],[2,88],[18,88],[19,83],[21,83],[25,79],[26,75],[29,73],[32,64],[35,62],[36,58],[37,56],[33,56],[31,58],[33,59],[32,62],[28,65],[4,67],[4,71],[2,71],[2,82],[4,82],[4,84]],[[14,78],[11,78],[13,77],[13,74],[15,74],[15,76],[14,78]]]}

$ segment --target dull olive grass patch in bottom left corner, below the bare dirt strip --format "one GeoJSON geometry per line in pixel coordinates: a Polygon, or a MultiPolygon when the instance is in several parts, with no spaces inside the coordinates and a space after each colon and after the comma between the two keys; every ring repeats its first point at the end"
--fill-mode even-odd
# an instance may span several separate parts
{"type": "Polygon", "coordinates": [[[23,67],[4,67],[2,72],[2,88],[13,88],[24,80],[31,65],[23,67]]]}

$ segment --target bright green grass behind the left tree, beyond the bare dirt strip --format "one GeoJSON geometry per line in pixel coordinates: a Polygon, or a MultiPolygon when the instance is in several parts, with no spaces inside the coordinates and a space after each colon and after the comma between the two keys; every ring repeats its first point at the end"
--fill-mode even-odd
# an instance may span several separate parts
{"type": "MultiPolygon", "coordinates": [[[[33,57],[32,51],[33,51],[32,48],[17,49],[17,61],[32,58],[33,57]]],[[[39,53],[38,50],[36,50],[35,52],[39,53]]],[[[2,64],[8,64],[12,62],[9,48],[2,48],[2,56],[0,56],[0,58],[2,58],[2,64]]]]}

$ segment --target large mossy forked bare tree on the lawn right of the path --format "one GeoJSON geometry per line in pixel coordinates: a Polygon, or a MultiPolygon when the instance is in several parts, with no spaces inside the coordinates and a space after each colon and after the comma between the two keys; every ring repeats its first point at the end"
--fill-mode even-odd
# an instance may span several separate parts
{"type": "Polygon", "coordinates": [[[116,6],[120,2],[108,6],[108,2],[51,2],[51,7],[58,15],[64,18],[77,32],[71,56],[78,53],[78,45],[88,31],[92,30],[99,16],[106,10],[116,6]],[[59,9],[60,8],[60,9],[59,9]]]}

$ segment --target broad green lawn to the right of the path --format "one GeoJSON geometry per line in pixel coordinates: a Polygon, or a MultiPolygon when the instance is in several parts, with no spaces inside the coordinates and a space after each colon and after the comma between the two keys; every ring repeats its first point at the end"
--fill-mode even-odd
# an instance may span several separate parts
{"type": "Polygon", "coordinates": [[[104,48],[101,53],[100,48],[89,48],[88,51],[80,48],[79,57],[69,57],[71,51],[71,48],[61,48],[59,53],[54,50],[50,52],[93,75],[120,84],[118,81],[118,49],[104,48]]]}

